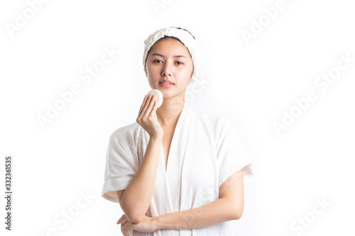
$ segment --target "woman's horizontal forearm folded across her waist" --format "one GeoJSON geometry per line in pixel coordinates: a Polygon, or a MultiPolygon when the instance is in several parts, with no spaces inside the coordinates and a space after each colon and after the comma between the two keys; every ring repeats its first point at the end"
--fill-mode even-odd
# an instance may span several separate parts
{"type": "Polygon", "coordinates": [[[236,220],[236,209],[227,198],[219,198],[191,210],[160,215],[153,219],[158,230],[187,230],[236,220]]]}

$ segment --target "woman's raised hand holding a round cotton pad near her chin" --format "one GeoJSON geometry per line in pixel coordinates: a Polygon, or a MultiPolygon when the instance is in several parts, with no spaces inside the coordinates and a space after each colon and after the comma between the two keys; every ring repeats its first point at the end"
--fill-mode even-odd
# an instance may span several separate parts
{"type": "Polygon", "coordinates": [[[141,108],[139,109],[136,122],[143,127],[151,137],[163,137],[163,128],[155,118],[157,101],[155,94],[144,97],[141,108]],[[153,95],[153,96],[152,96],[153,95]]]}

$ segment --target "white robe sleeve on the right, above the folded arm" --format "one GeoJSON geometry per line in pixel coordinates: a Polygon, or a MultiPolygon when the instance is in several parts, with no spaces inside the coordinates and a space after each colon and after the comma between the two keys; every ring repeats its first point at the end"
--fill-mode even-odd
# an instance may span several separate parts
{"type": "Polygon", "coordinates": [[[243,176],[251,176],[251,159],[246,153],[234,125],[226,118],[220,118],[217,123],[217,163],[219,187],[232,174],[243,169],[243,176]]]}

